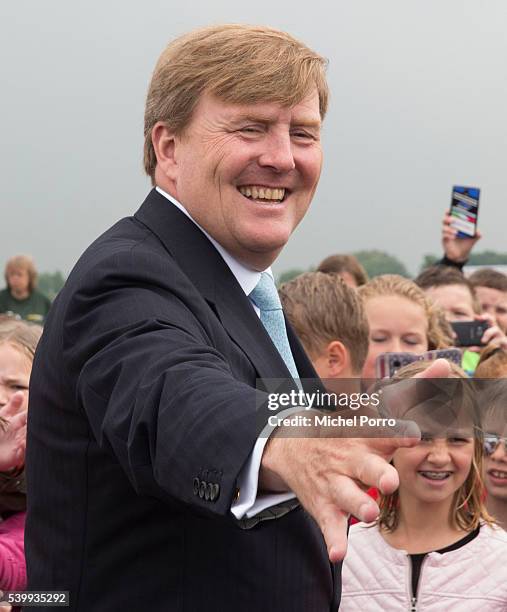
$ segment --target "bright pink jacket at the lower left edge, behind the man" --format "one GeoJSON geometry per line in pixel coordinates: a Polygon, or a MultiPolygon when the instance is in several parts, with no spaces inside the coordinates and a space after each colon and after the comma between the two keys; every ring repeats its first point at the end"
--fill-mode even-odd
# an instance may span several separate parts
{"type": "Polygon", "coordinates": [[[0,589],[26,589],[25,532],[26,512],[13,514],[0,522],[0,589]]]}

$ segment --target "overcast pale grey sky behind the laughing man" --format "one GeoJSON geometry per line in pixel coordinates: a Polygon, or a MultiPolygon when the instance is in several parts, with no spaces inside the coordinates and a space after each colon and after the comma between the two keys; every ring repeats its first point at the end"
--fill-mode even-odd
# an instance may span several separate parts
{"type": "Polygon", "coordinates": [[[453,184],[482,188],[477,248],[507,251],[505,0],[16,0],[0,8],[1,266],[25,252],[68,273],[137,209],[156,59],[221,22],[279,27],[330,62],[322,178],[276,272],[371,248],[416,272],[453,184]]]}

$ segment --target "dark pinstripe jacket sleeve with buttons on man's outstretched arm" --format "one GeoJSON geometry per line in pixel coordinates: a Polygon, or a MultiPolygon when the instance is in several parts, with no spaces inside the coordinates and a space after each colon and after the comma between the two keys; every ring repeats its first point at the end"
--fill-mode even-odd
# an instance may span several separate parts
{"type": "Polygon", "coordinates": [[[259,392],[231,370],[244,365],[224,355],[215,314],[167,257],[142,248],[95,262],[71,295],[63,365],[99,446],[139,493],[228,514],[259,392]],[[219,484],[213,504],[196,478],[219,484]]]}

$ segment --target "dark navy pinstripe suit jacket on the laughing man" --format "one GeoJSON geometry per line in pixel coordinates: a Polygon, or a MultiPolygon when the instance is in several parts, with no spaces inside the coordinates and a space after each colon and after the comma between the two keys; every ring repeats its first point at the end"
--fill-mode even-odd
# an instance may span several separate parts
{"type": "Polygon", "coordinates": [[[82,612],[336,609],[339,571],[303,510],[248,530],[230,513],[255,380],[286,376],[215,248],[152,191],[81,257],[36,354],[28,588],[70,590],[82,612]]]}

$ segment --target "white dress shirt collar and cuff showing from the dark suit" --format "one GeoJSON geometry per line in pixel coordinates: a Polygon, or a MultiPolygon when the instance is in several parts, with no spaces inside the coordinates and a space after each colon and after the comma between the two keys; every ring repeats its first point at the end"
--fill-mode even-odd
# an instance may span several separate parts
{"type": "MultiPolygon", "coordinates": [[[[256,287],[257,283],[261,278],[261,272],[257,270],[252,270],[251,268],[247,268],[237,259],[235,259],[230,253],[228,253],[224,247],[219,244],[214,238],[212,238],[208,232],[203,229],[189,214],[187,209],[178,202],[176,198],[166,193],[160,187],[156,187],[157,191],[160,195],[163,195],[169,202],[174,204],[177,208],[181,210],[189,219],[191,219],[197,227],[206,235],[208,240],[213,244],[216,250],[220,253],[225,263],[229,266],[231,272],[234,274],[236,280],[238,281],[241,289],[248,296],[256,287]]],[[[271,268],[264,270],[267,274],[273,278],[273,272],[271,268]]],[[[260,317],[260,310],[257,306],[250,301],[252,304],[252,308],[257,313],[257,316],[260,317]]],[[[283,417],[285,414],[292,414],[295,408],[289,408],[288,410],[284,410],[280,412],[277,416],[283,417]]],[[[296,409],[297,410],[297,409],[296,409]]],[[[240,491],[239,498],[232,503],[231,512],[237,519],[251,518],[259,512],[262,512],[266,508],[270,506],[275,506],[276,504],[280,504],[288,499],[292,499],[295,497],[292,491],[288,491],[286,493],[259,493],[258,492],[258,483],[259,483],[259,470],[261,466],[262,453],[264,451],[264,447],[266,446],[266,442],[270,434],[273,432],[274,427],[266,425],[266,427],[261,432],[260,436],[257,438],[255,446],[248,458],[248,461],[243,466],[239,477],[238,477],[238,488],[240,491]]]]}

